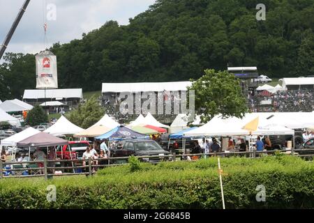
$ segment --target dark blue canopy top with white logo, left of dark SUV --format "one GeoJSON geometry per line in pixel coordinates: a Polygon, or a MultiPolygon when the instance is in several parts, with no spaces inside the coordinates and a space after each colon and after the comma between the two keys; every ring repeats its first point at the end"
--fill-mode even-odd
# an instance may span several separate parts
{"type": "Polygon", "coordinates": [[[95,137],[95,139],[147,139],[147,136],[124,126],[118,126],[99,137],[95,137]]]}

